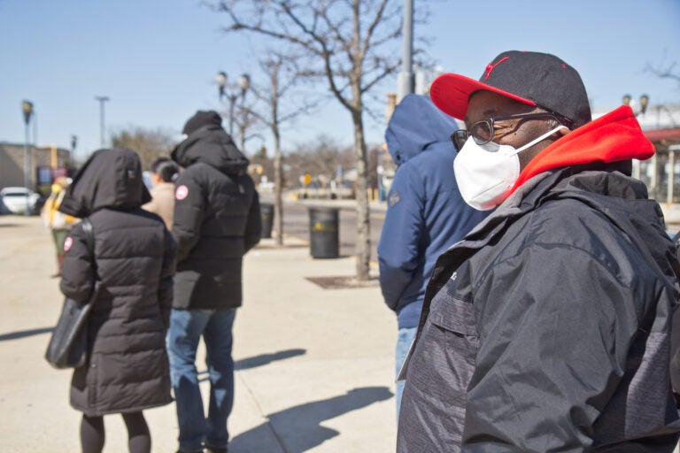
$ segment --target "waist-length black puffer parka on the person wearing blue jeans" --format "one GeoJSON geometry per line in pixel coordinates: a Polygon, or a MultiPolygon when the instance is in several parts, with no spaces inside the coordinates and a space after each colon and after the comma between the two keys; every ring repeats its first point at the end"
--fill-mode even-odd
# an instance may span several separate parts
{"type": "Polygon", "coordinates": [[[259,198],[248,159],[220,126],[201,127],[173,151],[185,168],[175,185],[174,308],[241,305],[243,255],[259,242],[259,198]]]}

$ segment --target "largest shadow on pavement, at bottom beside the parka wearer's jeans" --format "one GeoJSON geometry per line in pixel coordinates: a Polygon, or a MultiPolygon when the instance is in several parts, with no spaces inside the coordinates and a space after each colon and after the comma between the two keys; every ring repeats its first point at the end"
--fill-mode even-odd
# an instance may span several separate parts
{"type": "Polygon", "coordinates": [[[345,395],[305,403],[269,414],[269,420],[229,442],[229,451],[256,453],[271,449],[272,433],[287,453],[302,453],[340,434],[321,426],[321,422],[356,411],[370,404],[389,399],[389,388],[354,388],[345,395]]]}

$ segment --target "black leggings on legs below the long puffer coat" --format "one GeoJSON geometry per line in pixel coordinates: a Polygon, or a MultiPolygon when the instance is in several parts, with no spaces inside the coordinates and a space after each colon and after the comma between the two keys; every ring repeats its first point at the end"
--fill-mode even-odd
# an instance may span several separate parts
{"type": "MultiPolygon", "coordinates": [[[[130,453],[150,453],[151,434],[142,411],[121,414],[128,428],[128,448],[130,453]]],[[[81,421],[82,453],[101,453],[104,449],[104,417],[82,416],[81,421]]]]}

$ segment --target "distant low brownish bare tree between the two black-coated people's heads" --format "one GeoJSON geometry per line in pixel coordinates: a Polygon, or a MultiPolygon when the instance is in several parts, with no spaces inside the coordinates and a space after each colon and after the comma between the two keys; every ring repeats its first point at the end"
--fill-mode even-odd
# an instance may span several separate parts
{"type": "Polygon", "coordinates": [[[151,170],[151,163],[158,157],[168,157],[176,142],[174,135],[166,129],[145,129],[128,126],[112,134],[113,148],[128,148],[136,151],[142,161],[143,170],[151,170]]]}

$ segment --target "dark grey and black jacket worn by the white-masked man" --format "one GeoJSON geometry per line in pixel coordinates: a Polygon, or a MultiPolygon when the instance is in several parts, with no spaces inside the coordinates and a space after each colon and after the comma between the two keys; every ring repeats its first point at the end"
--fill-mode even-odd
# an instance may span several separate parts
{"type": "Polygon", "coordinates": [[[437,261],[398,451],[671,452],[673,252],[612,166],[529,180],[437,261]]]}

